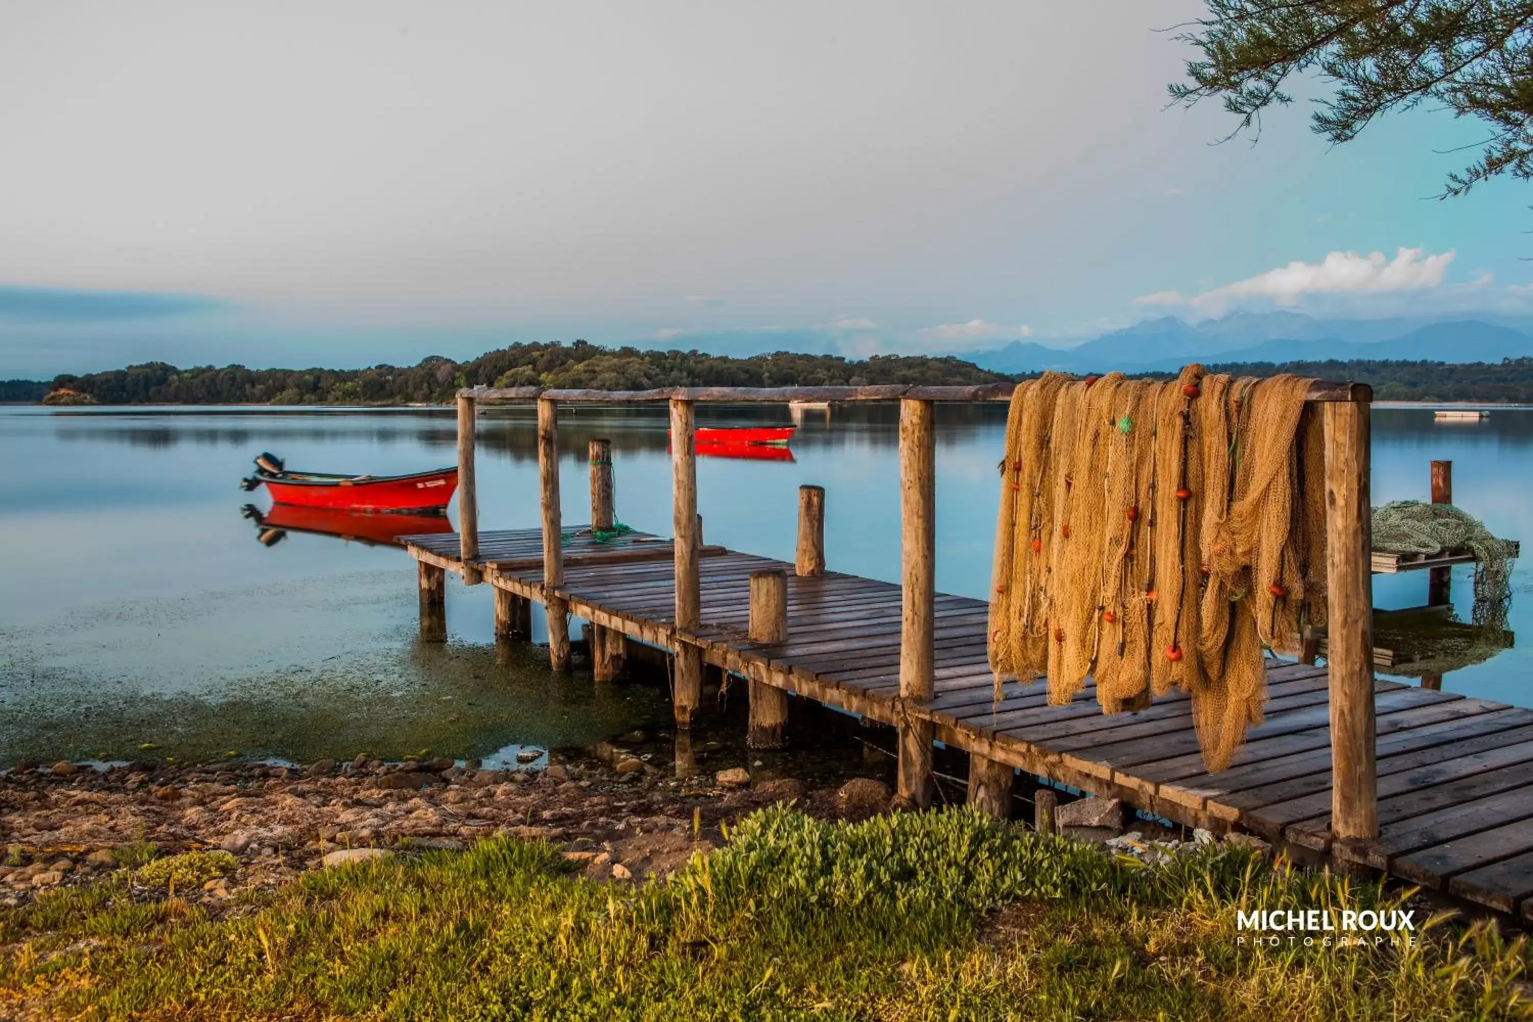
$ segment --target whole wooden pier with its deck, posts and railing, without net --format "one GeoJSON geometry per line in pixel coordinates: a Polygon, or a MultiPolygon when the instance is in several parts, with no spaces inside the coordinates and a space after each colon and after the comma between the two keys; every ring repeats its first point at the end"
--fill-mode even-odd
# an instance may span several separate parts
{"type": "MultiPolygon", "coordinates": [[[[1067,706],[1050,706],[1042,682],[1007,683],[993,700],[987,605],[932,585],[932,401],[1004,400],[1009,389],[464,391],[460,500],[466,507],[475,500],[474,405],[537,400],[543,522],[406,538],[420,564],[423,627],[438,622],[443,575],[457,572],[497,590],[500,634],[526,637],[530,604],[543,604],[556,670],[569,665],[570,614],[589,622],[598,679],[621,670],[627,639],[670,651],[679,728],[699,712],[704,663],[748,682],[756,748],[782,742],[789,694],[897,728],[898,795],[915,807],[932,801],[940,742],[969,754],[969,798],[993,814],[1009,809],[1023,771],[1533,919],[1533,711],[1374,677],[1367,388],[1323,385],[1311,395],[1328,429],[1331,659],[1269,665],[1266,720],[1219,774],[1203,771],[1190,700],[1179,693],[1114,716],[1101,712],[1090,686],[1067,706]],[[819,487],[802,492],[793,564],[702,542],[693,401],[794,398],[901,401],[901,585],[825,570],[822,515],[834,492],[819,487]],[[602,441],[590,457],[598,529],[564,527],[556,403],[658,400],[671,409],[673,535],[601,530],[613,521],[602,441]]],[[[475,522],[477,509],[460,519],[475,522]]],[[[1050,803],[1039,798],[1041,814],[1050,803]]]]}

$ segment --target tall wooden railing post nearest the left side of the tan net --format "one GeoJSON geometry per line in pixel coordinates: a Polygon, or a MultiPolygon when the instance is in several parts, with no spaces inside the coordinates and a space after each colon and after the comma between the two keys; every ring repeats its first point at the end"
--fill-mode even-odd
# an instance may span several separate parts
{"type": "Polygon", "coordinates": [[[934,608],[937,599],[937,446],[932,403],[900,401],[900,722],[898,795],[921,809],[932,804],[931,720],[909,716],[932,697],[934,608]]]}

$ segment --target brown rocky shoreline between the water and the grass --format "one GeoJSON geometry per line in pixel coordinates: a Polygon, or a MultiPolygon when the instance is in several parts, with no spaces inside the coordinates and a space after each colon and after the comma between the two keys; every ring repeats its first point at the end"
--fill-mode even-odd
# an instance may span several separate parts
{"type": "Polygon", "coordinates": [[[730,820],[776,801],[831,818],[889,804],[888,786],[872,778],[816,791],[793,778],[753,783],[742,768],[678,778],[668,762],[662,771],[645,755],[598,743],[509,771],[365,757],[307,768],[20,765],[0,774],[0,906],[150,857],[218,850],[231,857],[219,860],[227,875],[207,880],[201,895],[218,907],[327,864],[461,849],[500,834],[553,843],[589,876],[621,881],[681,867],[716,847],[730,820]]]}

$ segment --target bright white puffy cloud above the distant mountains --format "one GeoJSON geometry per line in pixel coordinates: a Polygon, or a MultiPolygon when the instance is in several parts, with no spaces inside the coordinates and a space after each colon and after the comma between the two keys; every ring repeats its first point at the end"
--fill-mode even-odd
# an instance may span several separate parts
{"type": "Polygon", "coordinates": [[[1351,296],[1401,291],[1430,291],[1443,283],[1453,262],[1453,251],[1426,256],[1423,248],[1397,248],[1389,259],[1381,251],[1360,256],[1332,251],[1320,262],[1294,260],[1222,288],[1183,297],[1179,291],[1156,291],[1134,299],[1136,305],[1185,305],[1219,314],[1242,302],[1298,305],[1309,296],[1351,296]]]}

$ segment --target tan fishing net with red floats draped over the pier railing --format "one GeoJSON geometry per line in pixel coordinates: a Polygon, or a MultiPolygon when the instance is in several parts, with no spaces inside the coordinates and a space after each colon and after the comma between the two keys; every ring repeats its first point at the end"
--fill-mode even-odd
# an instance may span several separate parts
{"type": "Polygon", "coordinates": [[[1105,712],[1191,694],[1203,762],[1262,722],[1263,648],[1323,625],[1325,486],[1309,380],[1171,383],[1046,374],[1012,397],[990,595],[990,667],[1091,677],[1105,712]],[[1312,483],[1306,484],[1306,477],[1312,483]]]}

